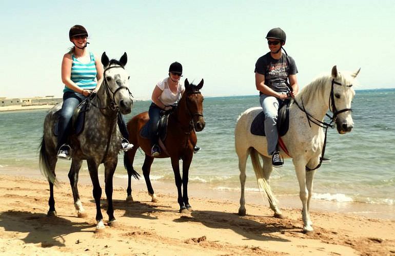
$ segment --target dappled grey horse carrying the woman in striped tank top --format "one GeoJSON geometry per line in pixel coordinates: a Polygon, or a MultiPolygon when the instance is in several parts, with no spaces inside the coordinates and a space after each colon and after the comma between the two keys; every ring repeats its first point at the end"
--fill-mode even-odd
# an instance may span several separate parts
{"type": "MultiPolygon", "coordinates": [[[[70,137],[71,167],[68,177],[74,198],[74,206],[78,217],[85,217],[80,195],[78,194],[78,172],[82,161],[86,160],[89,175],[93,184],[93,197],[96,203],[96,230],[104,228],[103,216],[100,209],[102,188],[98,180],[97,168],[103,163],[105,167],[105,191],[107,196],[108,225],[114,225],[114,210],[112,205],[112,178],[121,149],[121,134],[117,126],[118,112],[128,114],[133,106],[132,95],[128,89],[129,75],[125,70],[127,55],[121,59],[111,61],[104,52],[102,63],[104,66],[103,82],[96,95],[88,100],[88,111],[85,116],[84,130],[70,137]]],[[[56,216],[53,185],[57,184],[55,175],[56,144],[55,123],[62,103],[52,108],[44,121],[44,135],[40,145],[39,164],[43,174],[49,181],[49,210],[47,216],[56,216]]]]}

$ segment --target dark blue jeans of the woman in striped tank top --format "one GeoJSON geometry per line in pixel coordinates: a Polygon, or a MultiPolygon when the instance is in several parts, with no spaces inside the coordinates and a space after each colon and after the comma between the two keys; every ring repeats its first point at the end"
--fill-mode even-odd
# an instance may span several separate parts
{"type": "MultiPolygon", "coordinates": [[[[68,143],[69,136],[72,133],[71,119],[73,117],[74,110],[84,99],[86,99],[84,95],[76,92],[65,92],[63,94],[63,106],[57,121],[57,150],[59,150],[63,144],[68,143]]],[[[129,139],[129,133],[126,128],[125,120],[120,112],[118,112],[117,123],[122,136],[126,139],[129,139]]]]}

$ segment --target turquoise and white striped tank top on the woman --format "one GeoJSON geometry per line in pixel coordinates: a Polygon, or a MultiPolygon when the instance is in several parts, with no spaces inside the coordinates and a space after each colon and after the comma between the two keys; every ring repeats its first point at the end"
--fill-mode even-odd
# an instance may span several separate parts
{"type": "MultiPolygon", "coordinates": [[[[82,89],[93,90],[96,88],[97,82],[96,79],[96,66],[94,63],[94,55],[90,54],[89,63],[82,63],[78,59],[75,58],[74,54],[71,55],[73,58],[73,62],[71,65],[71,81],[75,82],[77,86],[82,89]]],[[[63,92],[74,92],[73,90],[67,88],[63,92]]]]}

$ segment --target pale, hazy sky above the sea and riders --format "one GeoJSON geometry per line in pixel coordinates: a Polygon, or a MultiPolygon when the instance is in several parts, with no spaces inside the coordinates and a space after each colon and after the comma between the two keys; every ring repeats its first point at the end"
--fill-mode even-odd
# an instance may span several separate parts
{"type": "Polygon", "coordinates": [[[256,60],[275,27],[295,59],[300,87],[356,71],[357,90],[395,88],[395,2],[332,1],[9,1],[0,3],[0,97],[62,97],[61,62],[70,27],[83,25],[89,51],[128,54],[129,89],[151,98],[173,61],[205,96],[258,94],[256,60]]]}

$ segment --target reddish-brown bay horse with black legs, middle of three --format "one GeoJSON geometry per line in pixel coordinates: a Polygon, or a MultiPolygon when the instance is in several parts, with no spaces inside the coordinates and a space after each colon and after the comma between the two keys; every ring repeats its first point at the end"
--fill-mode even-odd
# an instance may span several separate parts
{"type": "MultiPolygon", "coordinates": [[[[175,185],[178,193],[178,203],[180,204],[180,212],[192,211],[192,207],[188,201],[188,173],[189,166],[192,162],[193,147],[196,145],[196,132],[204,129],[206,123],[203,117],[203,96],[200,90],[203,87],[203,79],[195,86],[189,84],[188,79],[185,79],[185,92],[177,104],[175,110],[170,113],[167,125],[167,136],[163,141],[161,155],[156,158],[170,157],[171,166],[173,167],[175,185]],[[183,160],[183,177],[180,175],[180,163],[183,160]],[[183,191],[181,188],[183,187],[183,191]]],[[[134,146],[125,153],[124,164],[128,171],[128,188],[127,201],[133,201],[131,176],[136,173],[133,169],[133,160],[137,148],[141,147],[145,153],[145,160],[143,164],[143,175],[147,184],[148,194],[151,196],[152,202],[157,202],[157,197],[154,194],[151,181],[149,179],[150,169],[154,157],[151,156],[151,141],[140,135],[143,126],[148,122],[148,112],[143,112],[134,116],[127,124],[129,131],[129,142],[134,146]]]]}

